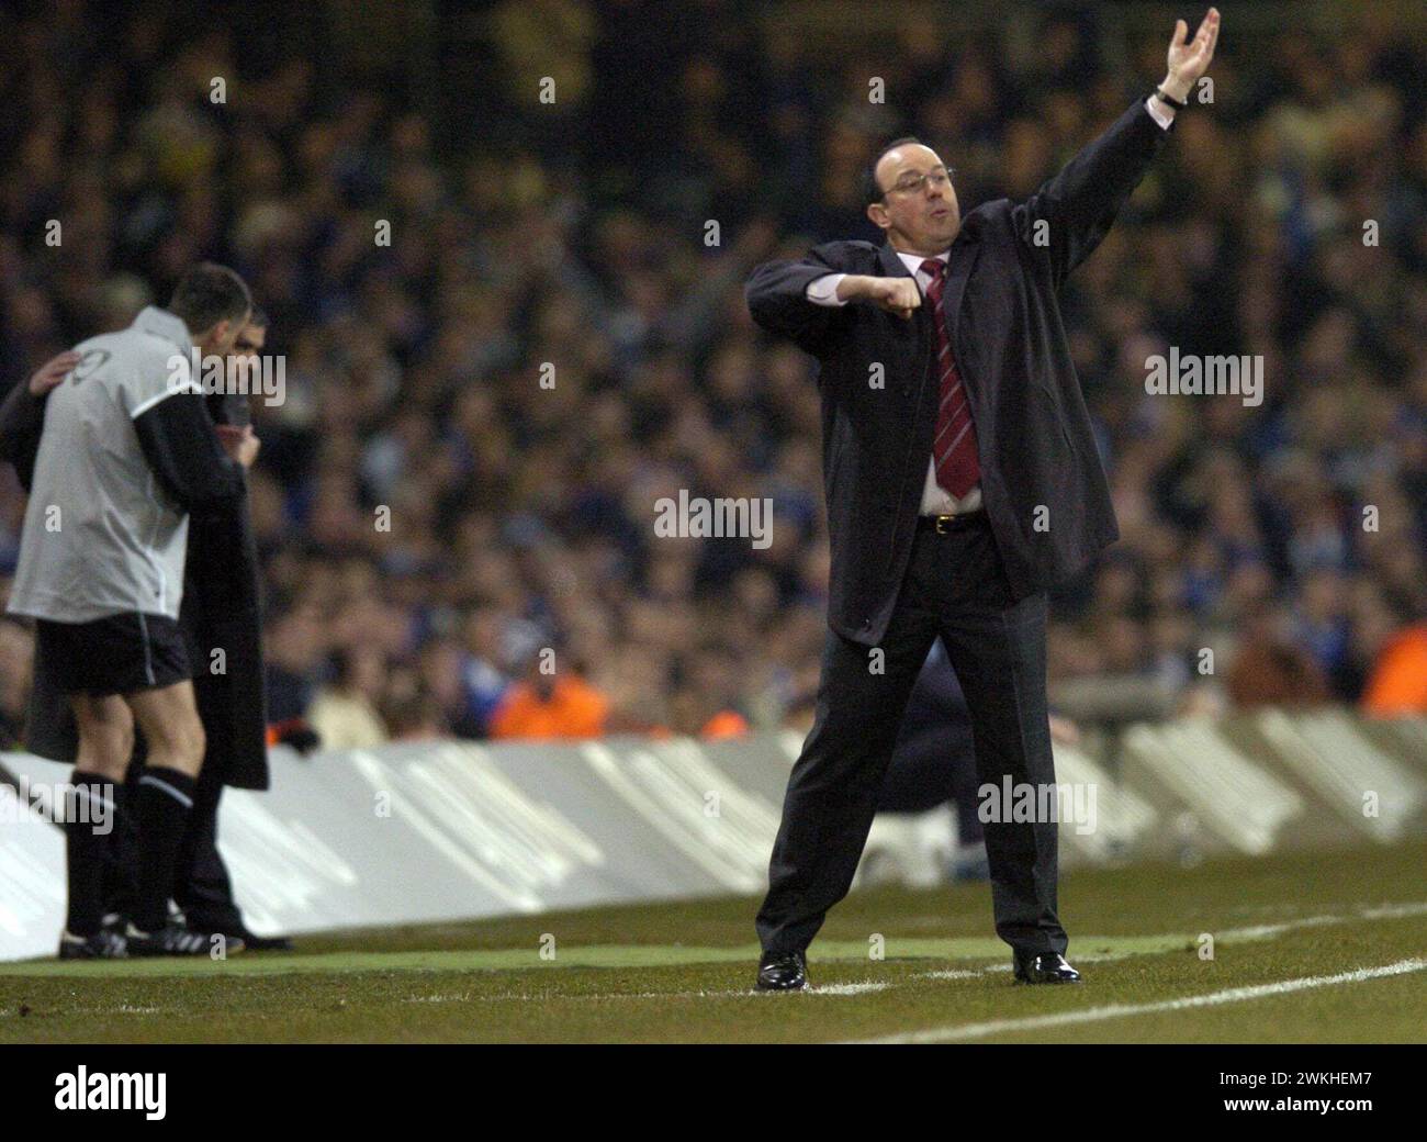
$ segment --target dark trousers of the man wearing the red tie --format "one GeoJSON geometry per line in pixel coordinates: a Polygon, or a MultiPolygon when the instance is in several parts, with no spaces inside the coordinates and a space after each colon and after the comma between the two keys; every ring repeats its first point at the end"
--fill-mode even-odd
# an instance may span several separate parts
{"type": "MultiPolygon", "coordinates": [[[[1012,601],[985,514],[946,534],[919,528],[880,647],[828,634],[816,717],[788,779],[758,914],[765,952],[803,951],[848,895],[908,695],[938,635],[966,695],[977,779],[1055,782],[1045,594],[1012,601]]],[[[1055,822],[985,829],[996,934],[1026,955],[1063,954],[1055,822]]]]}

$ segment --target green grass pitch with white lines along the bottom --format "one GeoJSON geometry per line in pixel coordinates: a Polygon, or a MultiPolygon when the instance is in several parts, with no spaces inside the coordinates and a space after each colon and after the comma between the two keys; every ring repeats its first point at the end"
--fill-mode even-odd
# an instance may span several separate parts
{"type": "Polygon", "coordinates": [[[795,995],[751,991],[749,898],[0,964],[0,1042],[1423,1042],[1424,868],[1413,842],[1069,874],[1075,988],[1012,984],[979,884],[853,894],[795,995]]]}

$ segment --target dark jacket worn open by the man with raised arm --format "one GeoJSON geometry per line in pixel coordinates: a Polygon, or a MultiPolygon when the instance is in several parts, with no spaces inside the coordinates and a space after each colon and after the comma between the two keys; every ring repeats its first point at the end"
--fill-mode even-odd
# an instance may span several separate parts
{"type": "MultiPolygon", "coordinates": [[[[1083,570],[1119,538],[1057,294],[1166,136],[1136,101],[1027,201],[997,198],[966,214],[950,247],[943,311],[976,424],[983,504],[1017,598],[1083,570]]],[[[831,273],[909,276],[890,243],[835,241],[759,266],[746,298],[759,325],[818,358],[828,622],[870,647],[896,605],[932,455],[933,317],[929,303],[903,320],[862,301],[808,301],[808,284],[831,273]]]]}

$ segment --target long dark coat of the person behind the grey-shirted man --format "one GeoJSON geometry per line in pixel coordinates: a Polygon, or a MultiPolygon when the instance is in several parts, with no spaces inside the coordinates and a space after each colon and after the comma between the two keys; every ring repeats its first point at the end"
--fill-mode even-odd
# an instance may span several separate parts
{"type": "MultiPolygon", "coordinates": [[[[247,423],[244,397],[210,397],[217,423],[247,423]]],[[[29,488],[44,424],[44,400],[20,381],[0,405],[0,460],[16,465],[29,488]]],[[[263,625],[258,554],[247,490],[207,514],[188,517],[188,555],[178,625],[193,660],[194,695],[208,739],[204,767],[224,785],[265,789],[267,702],[263,692],[263,625]],[[223,674],[214,674],[223,650],[223,674]]],[[[37,652],[30,689],[26,749],[51,761],[74,761],[74,717],[37,652]]]]}

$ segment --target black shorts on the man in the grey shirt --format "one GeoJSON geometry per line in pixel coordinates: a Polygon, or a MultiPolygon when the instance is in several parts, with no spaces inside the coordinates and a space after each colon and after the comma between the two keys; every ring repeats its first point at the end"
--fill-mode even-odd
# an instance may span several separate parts
{"type": "Polygon", "coordinates": [[[93,622],[36,621],[36,661],[66,694],[133,694],[193,677],[178,624],[131,611],[93,622]]]}

